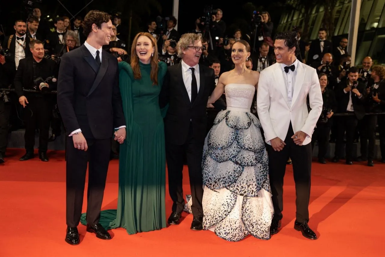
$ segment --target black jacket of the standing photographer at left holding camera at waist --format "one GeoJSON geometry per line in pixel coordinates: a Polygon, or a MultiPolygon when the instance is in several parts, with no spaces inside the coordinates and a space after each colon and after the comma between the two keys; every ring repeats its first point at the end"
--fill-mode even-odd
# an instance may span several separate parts
{"type": "MultiPolygon", "coordinates": [[[[47,79],[47,77],[51,76],[57,77],[57,66],[54,60],[43,58],[40,64],[42,67],[40,71],[42,79],[47,79]]],[[[18,97],[25,96],[23,89],[33,89],[33,57],[25,57],[20,60],[13,84],[15,85],[15,92],[18,97]]],[[[49,86],[51,90],[56,89],[55,84],[50,84],[49,86]]]]}

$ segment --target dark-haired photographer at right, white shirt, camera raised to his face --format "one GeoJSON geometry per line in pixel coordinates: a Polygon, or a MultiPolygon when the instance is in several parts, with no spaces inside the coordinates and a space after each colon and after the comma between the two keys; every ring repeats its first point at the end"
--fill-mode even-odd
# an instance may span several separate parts
{"type": "Polygon", "coordinates": [[[336,148],[333,162],[340,160],[343,148],[343,137],[346,131],[346,164],[353,164],[353,141],[354,131],[358,120],[365,116],[365,85],[357,81],[358,69],[350,67],[347,79],[343,79],[335,88],[336,100],[338,102],[338,113],[346,115],[338,117],[338,128],[336,137],[336,148]]]}

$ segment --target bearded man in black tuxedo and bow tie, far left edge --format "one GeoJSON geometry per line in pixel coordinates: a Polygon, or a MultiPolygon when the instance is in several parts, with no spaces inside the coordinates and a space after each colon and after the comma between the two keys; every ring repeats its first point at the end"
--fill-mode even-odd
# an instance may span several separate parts
{"type": "Polygon", "coordinates": [[[27,37],[27,25],[23,20],[17,20],[13,26],[15,34],[5,37],[2,44],[3,48],[8,48],[10,55],[5,56],[4,71],[7,72],[8,83],[13,82],[19,61],[25,57],[32,56],[29,50],[31,39],[27,37]]]}

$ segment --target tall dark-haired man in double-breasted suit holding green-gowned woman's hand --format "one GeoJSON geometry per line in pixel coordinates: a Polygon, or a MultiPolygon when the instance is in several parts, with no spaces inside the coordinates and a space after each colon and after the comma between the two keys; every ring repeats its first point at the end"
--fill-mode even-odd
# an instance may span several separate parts
{"type": "Polygon", "coordinates": [[[87,40],[61,58],[57,104],[67,137],[67,235],[69,244],[79,244],[77,225],[82,212],[87,163],[87,232],[111,239],[100,225],[105,179],[110,160],[111,137],[123,143],[126,123],[119,91],[117,59],[102,50],[112,32],[110,15],[90,11],[84,18],[87,40]],[[88,150],[88,151],[87,151],[88,150]]]}

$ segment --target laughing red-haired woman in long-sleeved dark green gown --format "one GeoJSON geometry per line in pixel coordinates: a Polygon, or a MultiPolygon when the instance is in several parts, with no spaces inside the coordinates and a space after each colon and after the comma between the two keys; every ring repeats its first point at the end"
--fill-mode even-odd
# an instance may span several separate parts
{"type": "MultiPolygon", "coordinates": [[[[106,229],[126,228],[127,233],[166,227],[166,156],[159,93],[167,71],[158,62],[151,34],[136,35],[131,66],[119,62],[119,87],[127,124],[127,138],[119,151],[117,210],[103,210],[99,223],[106,229]]],[[[82,224],[87,224],[85,214],[82,224]]]]}

